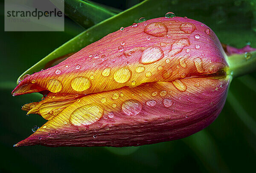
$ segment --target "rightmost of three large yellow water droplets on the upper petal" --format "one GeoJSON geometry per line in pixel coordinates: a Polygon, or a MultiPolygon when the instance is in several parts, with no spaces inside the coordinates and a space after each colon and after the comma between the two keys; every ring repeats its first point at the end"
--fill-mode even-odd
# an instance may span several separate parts
{"type": "Polygon", "coordinates": [[[127,67],[121,67],[114,73],[114,80],[118,83],[125,83],[131,78],[131,70],[127,67]]]}

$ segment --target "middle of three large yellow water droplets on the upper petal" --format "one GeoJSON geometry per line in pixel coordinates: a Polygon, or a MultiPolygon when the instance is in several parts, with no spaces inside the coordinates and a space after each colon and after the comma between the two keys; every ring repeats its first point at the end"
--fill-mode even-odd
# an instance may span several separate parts
{"type": "Polygon", "coordinates": [[[92,82],[87,77],[76,77],[71,82],[71,87],[75,91],[84,91],[90,88],[92,82]]]}

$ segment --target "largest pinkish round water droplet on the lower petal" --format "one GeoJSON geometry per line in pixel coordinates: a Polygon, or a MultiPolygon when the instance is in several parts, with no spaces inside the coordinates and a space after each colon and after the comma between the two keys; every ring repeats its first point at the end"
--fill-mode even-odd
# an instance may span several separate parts
{"type": "Polygon", "coordinates": [[[142,105],[138,100],[128,99],[122,104],[122,111],[128,116],[134,116],[140,113],[142,105]]]}

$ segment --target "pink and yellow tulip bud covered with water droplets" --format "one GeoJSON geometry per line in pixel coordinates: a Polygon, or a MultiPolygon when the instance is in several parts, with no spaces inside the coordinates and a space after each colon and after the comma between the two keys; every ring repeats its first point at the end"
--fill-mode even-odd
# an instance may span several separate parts
{"type": "Polygon", "coordinates": [[[44,92],[23,106],[48,120],[15,146],[138,146],[189,136],[212,123],[227,96],[227,55],[198,21],[160,17],[108,34],[13,95],[44,92]]]}

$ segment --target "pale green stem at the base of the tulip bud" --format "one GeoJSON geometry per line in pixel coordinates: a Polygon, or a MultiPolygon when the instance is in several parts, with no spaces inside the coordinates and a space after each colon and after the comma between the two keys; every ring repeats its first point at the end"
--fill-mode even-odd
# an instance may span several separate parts
{"type": "Polygon", "coordinates": [[[227,57],[229,69],[227,74],[239,77],[256,70],[256,51],[245,54],[233,54],[227,57]]]}

